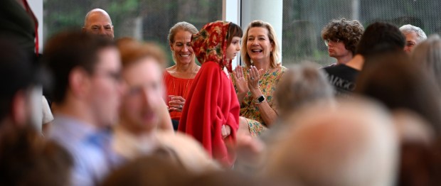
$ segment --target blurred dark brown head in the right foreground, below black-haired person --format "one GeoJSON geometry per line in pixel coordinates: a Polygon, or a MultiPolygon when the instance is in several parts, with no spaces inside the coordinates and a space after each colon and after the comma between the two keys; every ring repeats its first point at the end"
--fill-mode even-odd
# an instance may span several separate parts
{"type": "Polygon", "coordinates": [[[358,76],[355,92],[376,99],[391,111],[415,112],[440,135],[440,93],[433,76],[424,68],[410,62],[403,50],[372,55],[358,76]]]}

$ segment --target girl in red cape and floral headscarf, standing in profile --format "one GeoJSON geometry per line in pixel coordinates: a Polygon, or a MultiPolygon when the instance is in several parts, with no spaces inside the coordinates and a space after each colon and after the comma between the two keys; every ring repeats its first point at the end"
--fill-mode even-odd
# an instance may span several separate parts
{"type": "Polygon", "coordinates": [[[225,167],[233,165],[240,105],[228,75],[231,60],[240,51],[242,30],[234,23],[208,23],[193,35],[191,46],[201,62],[179,121],[182,131],[201,142],[212,158],[225,167]]]}

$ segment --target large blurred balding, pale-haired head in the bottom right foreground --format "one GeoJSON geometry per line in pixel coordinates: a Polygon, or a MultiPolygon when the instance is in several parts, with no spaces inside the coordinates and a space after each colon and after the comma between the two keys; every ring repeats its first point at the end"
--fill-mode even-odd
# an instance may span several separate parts
{"type": "Polygon", "coordinates": [[[341,100],[299,111],[275,144],[267,174],[297,185],[393,185],[398,138],[383,107],[341,100]],[[319,113],[319,114],[317,114],[319,113]]]}

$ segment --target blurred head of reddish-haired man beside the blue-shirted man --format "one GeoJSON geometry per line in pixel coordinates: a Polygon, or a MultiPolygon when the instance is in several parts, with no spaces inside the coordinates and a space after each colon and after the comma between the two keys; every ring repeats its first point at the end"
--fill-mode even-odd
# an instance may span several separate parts
{"type": "Polygon", "coordinates": [[[152,132],[162,121],[164,51],[153,43],[139,43],[132,38],[117,40],[117,47],[121,53],[122,77],[127,85],[119,109],[119,123],[132,133],[152,132]]]}

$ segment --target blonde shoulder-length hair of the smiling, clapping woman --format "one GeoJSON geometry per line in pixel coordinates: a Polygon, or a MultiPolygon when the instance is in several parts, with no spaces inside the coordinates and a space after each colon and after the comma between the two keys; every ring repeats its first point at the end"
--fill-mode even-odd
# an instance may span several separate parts
{"type": "Polygon", "coordinates": [[[247,50],[247,40],[248,40],[248,31],[250,31],[250,28],[255,27],[262,27],[267,28],[268,31],[268,38],[270,38],[270,42],[273,44],[272,51],[271,51],[271,67],[277,67],[280,65],[279,59],[280,59],[280,46],[279,42],[277,41],[277,36],[275,35],[274,28],[270,25],[270,23],[267,23],[265,21],[251,21],[251,23],[248,25],[247,30],[244,32],[242,40],[245,41],[245,43],[242,44],[242,47],[240,49],[240,55],[242,55],[242,60],[245,62],[245,65],[247,67],[250,67],[251,65],[251,59],[250,55],[248,55],[247,50]]]}

